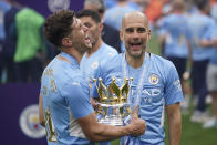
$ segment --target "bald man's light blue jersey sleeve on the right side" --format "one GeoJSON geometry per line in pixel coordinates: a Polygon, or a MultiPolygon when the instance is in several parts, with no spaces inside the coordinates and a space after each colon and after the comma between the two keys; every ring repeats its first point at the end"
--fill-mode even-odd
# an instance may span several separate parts
{"type": "Polygon", "coordinates": [[[169,66],[166,71],[165,102],[166,105],[172,105],[183,101],[183,92],[178,73],[172,62],[169,62],[169,66]]]}

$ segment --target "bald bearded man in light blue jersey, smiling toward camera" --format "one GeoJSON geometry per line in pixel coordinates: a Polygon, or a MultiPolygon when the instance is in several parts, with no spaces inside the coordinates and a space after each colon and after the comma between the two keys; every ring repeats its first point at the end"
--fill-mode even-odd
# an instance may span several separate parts
{"type": "MultiPolygon", "coordinates": [[[[178,145],[182,132],[179,103],[183,101],[183,93],[174,64],[146,51],[151,30],[148,20],[142,12],[125,14],[120,38],[126,52],[101,65],[95,77],[102,77],[103,83],[108,85],[115,76],[120,86],[124,77],[133,77],[128,102],[132,108],[138,106],[140,116],[147,124],[145,134],[137,138],[125,136],[122,144],[164,145],[166,111],[169,143],[178,145]]],[[[93,92],[96,96],[96,89],[93,92]]]]}

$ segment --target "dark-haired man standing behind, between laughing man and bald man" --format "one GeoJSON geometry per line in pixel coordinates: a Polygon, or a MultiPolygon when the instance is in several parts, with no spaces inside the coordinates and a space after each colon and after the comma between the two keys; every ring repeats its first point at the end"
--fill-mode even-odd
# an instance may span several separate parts
{"type": "MultiPolygon", "coordinates": [[[[93,83],[93,76],[95,70],[100,64],[103,64],[107,59],[117,54],[117,51],[105,44],[102,40],[103,23],[101,22],[100,14],[90,9],[84,9],[78,12],[76,17],[81,22],[89,28],[87,34],[91,39],[92,48],[84,53],[81,62],[80,69],[83,72],[89,84],[93,83]]],[[[95,100],[92,100],[94,103],[95,100]]],[[[110,144],[108,142],[100,144],[110,144]]]]}

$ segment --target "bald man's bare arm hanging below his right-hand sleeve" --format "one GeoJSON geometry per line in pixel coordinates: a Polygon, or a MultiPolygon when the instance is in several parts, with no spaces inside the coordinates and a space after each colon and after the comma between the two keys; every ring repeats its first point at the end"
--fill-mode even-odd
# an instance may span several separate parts
{"type": "Polygon", "coordinates": [[[182,116],[179,103],[168,105],[166,107],[166,112],[168,118],[169,144],[179,145],[182,133],[182,116]]]}

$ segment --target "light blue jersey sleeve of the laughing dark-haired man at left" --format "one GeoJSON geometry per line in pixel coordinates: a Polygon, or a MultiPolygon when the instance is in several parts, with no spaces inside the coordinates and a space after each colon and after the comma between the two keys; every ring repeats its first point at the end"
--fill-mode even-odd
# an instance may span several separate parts
{"type": "Polygon", "coordinates": [[[61,92],[73,117],[81,118],[94,111],[89,96],[89,85],[85,85],[84,81],[70,81],[61,92]]]}

